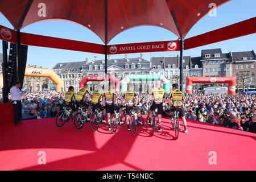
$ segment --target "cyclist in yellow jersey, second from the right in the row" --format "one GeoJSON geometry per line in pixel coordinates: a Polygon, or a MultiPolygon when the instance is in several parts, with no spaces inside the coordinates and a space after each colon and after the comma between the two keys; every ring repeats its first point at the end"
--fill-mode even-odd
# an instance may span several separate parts
{"type": "Polygon", "coordinates": [[[163,103],[166,101],[166,92],[164,89],[160,88],[161,82],[158,80],[155,83],[156,88],[152,89],[152,97],[151,97],[151,103],[149,110],[149,122],[148,124],[151,124],[151,118],[152,118],[152,111],[154,111],[156,108],[158,108],[158,132],[161,132],[161,118],[163,113],[163,103]]]}

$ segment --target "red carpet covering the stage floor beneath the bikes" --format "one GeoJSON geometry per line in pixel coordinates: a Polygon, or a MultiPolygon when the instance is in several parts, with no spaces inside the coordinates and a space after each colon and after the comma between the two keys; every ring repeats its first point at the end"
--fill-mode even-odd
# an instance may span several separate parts
{"type": "Polygon", "coordinates": [[[135,137],[126,126],[112,134],[105,124],[96,133],[89,123],[57,129],[53,118],[8,123],[0,126],[0,170],[256,170],[256,134],[188,121],[188,133],[175,140],[169,120],[162,133],[144,126],[135,137]],[[210,151],[217,164],[209,164],[210,151]]]}

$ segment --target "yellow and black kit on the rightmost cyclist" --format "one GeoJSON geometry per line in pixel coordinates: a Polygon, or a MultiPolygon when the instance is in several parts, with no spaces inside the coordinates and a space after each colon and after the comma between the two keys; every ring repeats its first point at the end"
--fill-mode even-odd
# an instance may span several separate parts
{"type": "Polygon", "coordinates": [[[180,116],[184,117],[185,110],[183,108],[183,92],[181,92],[180,90],[173,90],[172,92],[170,92],[168,97],[172,99],[171,111],[179,111],[180,116]]]}

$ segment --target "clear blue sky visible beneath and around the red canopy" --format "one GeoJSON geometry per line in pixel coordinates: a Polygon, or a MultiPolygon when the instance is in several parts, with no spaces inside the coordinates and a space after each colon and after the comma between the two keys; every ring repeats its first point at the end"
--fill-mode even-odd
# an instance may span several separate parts
{"type": "MultiPolygon", "coordinates": [[[[214,2],[214,1],[213,1],[214,2]]],[[[185,38],[190,38],[208,31],[216,30],[217,28],[225,27],[233,23],[241,22],[256,16],[256,1],[255,0],[233,0],[222,5],[217,9],[217,16],[204,16],[199,22],[192,27],[185,38]]],[[[0,24],[9,28],[13,28],[9,21],[0,13],[0,24]]],[[[80,40],[83,42],[91,42],[103,44],[100,38],[92,31],[79,26],[78,24],[65,21],[48,21],[30,24],[23,28],[22,32],[31,34],[39,34],[53,36],[56,38],[80,40]]],[[[131,28],[118,34],[109,44],[124,44],[138,42],[154,42],[177,40],[177,36],[164,28],[154,26],[141,26],[131,28]]],[[[185,56],[200,56],[201,49],[221,48],[222,52],[229,51],[256,51],[256,34],[242,36],[236,39],[226,40],[224,42],[209,44],[198,48],[188,49],[184,51],[185,56]]],[[[0,44],[0,52],[2,53],[2,43],[0,44]]],[[[158,56],[177,56],[179,52],[152,52],[143,53],[143,58],[150,60],[150,57],[158,56]]],[[[67,51],[63,49],[52,49],[43,47],[28,47],[27,64],[36,64],[43,68],[52,68],[56,63],[69,61],[84,61],[86,57],[93,60],[94,56],[98,59],[105,59],[104,55],[67,51]]],[[[124,55],[112,55],[113,59],[122,58],[124,55]]],[[[139,57],[139,53],[129,54],[128,57],[139,57]]]]}

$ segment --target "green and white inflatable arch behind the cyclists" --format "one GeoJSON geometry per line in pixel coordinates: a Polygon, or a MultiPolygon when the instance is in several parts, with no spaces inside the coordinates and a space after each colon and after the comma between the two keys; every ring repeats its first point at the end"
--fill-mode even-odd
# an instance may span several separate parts
{"type": "Polygon", "coordinates": [[[160,80],[166,93],[170,93],[170,81],[163,75],[128,75],[121,81],[121,92],[127,90],[127,84],[130,81],[156,81],[160,80]]]}

